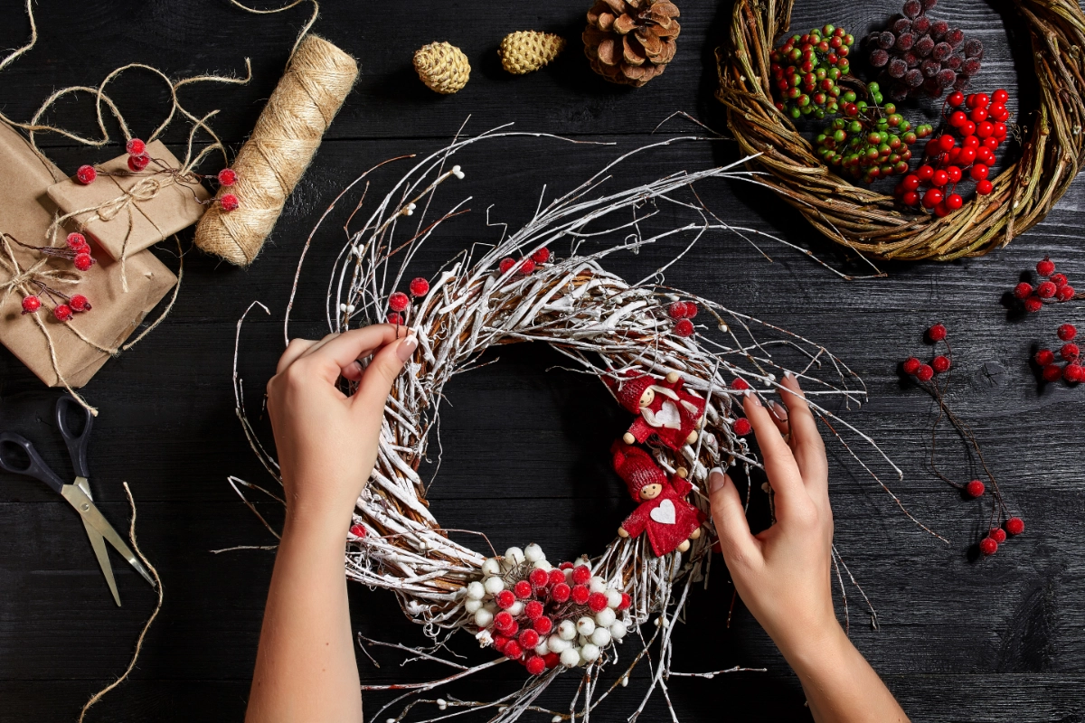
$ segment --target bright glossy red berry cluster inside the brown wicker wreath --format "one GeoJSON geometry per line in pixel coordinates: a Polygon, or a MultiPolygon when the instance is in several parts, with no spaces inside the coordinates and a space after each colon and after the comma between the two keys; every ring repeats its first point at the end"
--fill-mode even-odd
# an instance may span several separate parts
{"type": "Polygon", "coordinates": [[[946,99],[948,129],[927,142],[923,165],[901,180],[896,188],[901,202],[906,206],[922,205],[940,218],[947,216],[965,204],[957,184],[966,172],[975,181],[978,194],[990,194],[994,185],[987,177],[995,164],[995,151],[1008,132],[1008,99],[1001,89],[990,98],[986,93],[950,93],[946,99]]]}

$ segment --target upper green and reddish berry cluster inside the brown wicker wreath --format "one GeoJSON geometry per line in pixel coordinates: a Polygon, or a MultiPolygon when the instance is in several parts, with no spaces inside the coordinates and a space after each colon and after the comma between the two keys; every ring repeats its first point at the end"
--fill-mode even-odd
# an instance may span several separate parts
{"type": "Polygon", "coordinates": [[[855,38],[844,28],[826,25],[806,35],[793,35],[773,51],[769,72],[776,83],[776,107],[792,118],[825,118],[840,112],[847,75],[847,55],[855,38]]]}

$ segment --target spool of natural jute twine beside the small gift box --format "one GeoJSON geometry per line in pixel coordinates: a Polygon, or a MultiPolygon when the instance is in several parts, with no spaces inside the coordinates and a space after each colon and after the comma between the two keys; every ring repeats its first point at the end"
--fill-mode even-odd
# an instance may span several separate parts
{"type": "Polygon", "coordinates": [[[213,204],[196,227],[196,246],[237,266],[253,262],[357,77],[358,64],[342,50],[315,35],[302,40],[238,153],[238,182],[219,189],[241,207],[213,204]]]}

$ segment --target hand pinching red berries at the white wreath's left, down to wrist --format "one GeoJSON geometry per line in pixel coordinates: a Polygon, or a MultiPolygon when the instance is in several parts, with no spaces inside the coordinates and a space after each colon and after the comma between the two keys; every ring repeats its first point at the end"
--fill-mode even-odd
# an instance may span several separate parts
{"type": "Polygon", "coordinates": [[[294,339],[268,382],[288,516],[349,526],[354,503],[376,461],[376,439],[392,383],[418,339],[403,326],[376,324],[319,341],[294,339]],[[359,359],[373,354],[362,372],[359,359]],[[358,382],[352,397],[340,376],[358,382]]]}

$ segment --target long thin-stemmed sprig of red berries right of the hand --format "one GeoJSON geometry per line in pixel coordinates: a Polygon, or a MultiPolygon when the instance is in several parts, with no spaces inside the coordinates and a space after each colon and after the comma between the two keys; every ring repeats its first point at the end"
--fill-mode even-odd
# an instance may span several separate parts
{"type": "MultiPolygon", "coordinates": [[[[980,450],[979,440],[976,440],[975,435],[972,434],[971,429],[966,425],[948,406],[945,400],[945,393],[949,388],[950,375],[949,370],[953,367],[953,353],[949,349],[948,341],[948,330],[946,330],[945,324],[934,324],[927,330],[926,337],[931,344],[939,345],[944,344],[946,347],[946,352],[944,354],[936,354],[931,359],[929,364],[922,363],[918,357],[909,357],[902,364],[904,373],[916,379],[919,387],[924,389],[930,393],[934,400],[939,403],[939,416],[934,422],[933,429],[931,430],[931,469],[935,475],[939,476],[944,482],[959,490],[960,493],[972,500],[978,500],[983,498],[987,492],[987,485],[981,479],[972,479],[968,482],[958,482],[950,479],[946,475],[942,474],[935,463],[935,450],[937,446],[937,428],[941,424],[942,418],[945,417],[957,430],[957,434],[968,442],[972,449],[975,450],[976,457],[980,461],[980,465],[983,467],[983,472],[986,474],[987,479],[991,481],[992,494],[994,502],[992,505],[992,519],[988,526],[990,532],[979,542],[980,552],[984,555],[993,555],[998,550],[998,545],[1006,540],[1006,533],[1009,534],[1020,534],[1024,531],[1024,522],[1020,517],[1011,517],[1006,507],[1006,503],[1003,500],[1001,491],[998,488],[998,483],[995,481],[995,477],[991,474],[991,469],[987,467],[986,461],[983,459],[983,452],[980,450]],[[935,375],[945,375],[945,382],[939,383],[934,380],[935,375]],[[995,522],[1001,522],[1005,526],[1005,532],[995,522]],[[1018,530],[1014,532],[1013,530],[1018,530]]],[[[1051,354],[1050,351],[1047,351],[1051,354]]],[[[1052,356],[1054,358],[1054,356],[1052,356]]],[[[1045,367],[1046,369],[1046,367],[1045,367]]],[[[1061,375],[1061,370],[1059,370],[1061,375]]]]}

